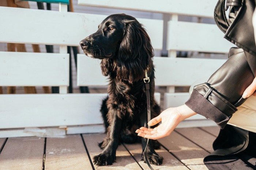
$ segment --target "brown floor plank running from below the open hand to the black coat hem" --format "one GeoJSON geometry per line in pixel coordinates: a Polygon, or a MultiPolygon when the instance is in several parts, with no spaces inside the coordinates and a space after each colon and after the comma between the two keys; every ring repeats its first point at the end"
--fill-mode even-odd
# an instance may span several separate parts
{"type": "Polygon", "coordinates": [[[204,157],[209,153],[201,149],[194,143],[173,131],[169,136],[158,140],[178,159],[181,160],[191,170],[203,170],[207,167],[203,163],[204,157]]]}

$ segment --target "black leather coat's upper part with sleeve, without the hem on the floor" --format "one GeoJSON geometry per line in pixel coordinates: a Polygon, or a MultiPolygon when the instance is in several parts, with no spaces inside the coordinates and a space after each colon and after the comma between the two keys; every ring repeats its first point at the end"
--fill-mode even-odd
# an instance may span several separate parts
{"type": "Polygon", "coordinates": [[[246,99],[244,90],[256,75],[256,45],[252,15],[255,0],[227,0],[229,20],[225,15],[225,0],[219,0],[214,11],[224,38],[237,47],[230,48],[229,59],[206,83],[194,87],[185,103],[193,111],[214,120],[223,129],[234,112],[246,99]]]}

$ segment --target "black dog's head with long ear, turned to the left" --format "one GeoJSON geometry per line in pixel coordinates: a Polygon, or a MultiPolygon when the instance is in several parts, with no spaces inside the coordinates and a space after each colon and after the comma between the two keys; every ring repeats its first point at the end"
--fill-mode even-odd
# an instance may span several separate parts
{"type": "Polygon", "coordinates": [[[153,66],[150,38],[142,24],[129,15],[108,16],[80,46],[87,56],[102,59],[103,75],[116,72],[117,78],[134,82],[143,79],[144,70],[153,66]]]}

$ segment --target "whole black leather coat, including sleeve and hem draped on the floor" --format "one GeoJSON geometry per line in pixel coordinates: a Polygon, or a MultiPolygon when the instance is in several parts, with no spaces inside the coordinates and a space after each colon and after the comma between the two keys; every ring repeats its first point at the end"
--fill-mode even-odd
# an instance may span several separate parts
{"type": "Polygon", "coordinates": [[[256,158],[256,133],[226,125],[237,111],[236,107],[246,100],[242,94],[256,75],[252,25],[255,0],[227,0],[227,6],[230,7],[229,19],[225,15],[225,0],[218,1],[214,18],[225,33],[224,38],[237,47],[230,48],[229,59],[206,83],[194,87],[185,104],[221,128],[213,143],[214,152],[204,158],[208,169],[256,169],[255,161],[246,163],[256,158]]]}

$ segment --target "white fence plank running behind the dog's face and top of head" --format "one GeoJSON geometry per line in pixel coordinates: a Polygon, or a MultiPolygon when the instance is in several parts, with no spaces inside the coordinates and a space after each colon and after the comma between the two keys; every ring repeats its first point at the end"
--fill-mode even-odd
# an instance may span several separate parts
{"type": "MultiPolygon", "coordinates": [[[[0,28],[1,42],[66,46],[79,46],[80,40],[96,32],[98,25],[107,17],[88,13],[8,7],[0,7],[0,16],[5,16],[0,18],[0,23],[5,25],[0,28]],[[8,15],[5,15],[6,13],[8,15]],[[20,20],[17,16],[23,19],[20,20]]],[[[145,25],[153,47],[162,49],[163,21],[138,21],[145,25]]]]}

